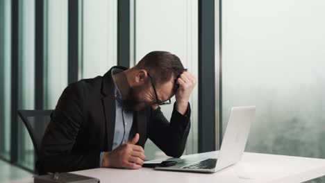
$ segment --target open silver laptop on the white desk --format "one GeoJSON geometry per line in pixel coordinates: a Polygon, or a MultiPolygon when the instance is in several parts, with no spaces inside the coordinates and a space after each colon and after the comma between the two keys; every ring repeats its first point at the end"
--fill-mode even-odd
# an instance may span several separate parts
{"type": "Polygon", "coordinates": [[[219,156],[185,158],[173,166],[156,166],[161,171],[215,173],[240,161],[249,137],[255,106],[232,107],[219,156]]]}

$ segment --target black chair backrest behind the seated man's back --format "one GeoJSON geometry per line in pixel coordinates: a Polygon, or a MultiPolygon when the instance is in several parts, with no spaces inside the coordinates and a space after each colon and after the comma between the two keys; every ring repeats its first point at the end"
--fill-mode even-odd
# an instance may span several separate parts
{"type": "Polygon", "coordinates": [[[40,145],[53,110],[18,110],[17,112],[33,141],[36,161],[40,157],[40,145]]]}

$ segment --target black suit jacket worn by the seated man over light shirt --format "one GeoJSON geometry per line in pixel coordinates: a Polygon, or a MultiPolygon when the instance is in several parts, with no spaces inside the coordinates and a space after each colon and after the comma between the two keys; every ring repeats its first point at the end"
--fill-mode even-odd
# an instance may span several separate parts
{"type": "MultiPolygon", "coordinates": [[[[99,167],[100,153],[112,150],[113,145],[112,81],[110,69],[103,77],[80,80],[64,90],[42,139],[36,164],[40,174],[99,167]]],[[[166,155],[180,157],[190,131],[190,105],[185,116],[173,110],[170,123],[160,108],[134,112],[132,128],[140,134],[139,146],[144,148],[149,138],[166,155]]]]}

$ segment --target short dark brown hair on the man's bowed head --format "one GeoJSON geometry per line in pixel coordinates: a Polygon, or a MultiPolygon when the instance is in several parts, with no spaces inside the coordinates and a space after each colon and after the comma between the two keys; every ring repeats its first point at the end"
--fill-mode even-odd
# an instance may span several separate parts
{"type": "Polygon", "coordinates": [[[178,56],[168,51],[151,51],[135,67],[147,70],[156,82],[161,83],[169,81],[172,77],[178,78],[184,71],[178,56]]]}

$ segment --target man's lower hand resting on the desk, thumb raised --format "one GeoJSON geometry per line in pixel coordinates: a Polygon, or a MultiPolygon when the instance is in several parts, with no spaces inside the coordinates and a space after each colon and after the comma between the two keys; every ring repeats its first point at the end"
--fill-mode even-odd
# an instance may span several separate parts
{"type": "Polygon", "coordinates": [[[139,169],[144,163],[144,150],[135,145],[139,141],[139,134],[135,134],[132,141],[123,143],[113,151],[103,154],[102,167],[139,169]]]}

